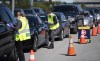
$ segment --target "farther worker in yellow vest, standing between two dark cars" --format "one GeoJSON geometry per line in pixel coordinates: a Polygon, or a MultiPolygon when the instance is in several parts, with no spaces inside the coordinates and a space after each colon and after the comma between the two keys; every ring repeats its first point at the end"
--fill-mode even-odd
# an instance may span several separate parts
{"type": "Polygon", "coordinates": [[[48,26],[49,26],[49,35],[50,35],[50,45],[49,45],[49,49],[53,49],[54,48],[54,36],[57,34],[57,32],[59,31],[59,22],[57,19],[57,16],[52,13],[51,11],[47,12],[48,14],[48,26]]]}

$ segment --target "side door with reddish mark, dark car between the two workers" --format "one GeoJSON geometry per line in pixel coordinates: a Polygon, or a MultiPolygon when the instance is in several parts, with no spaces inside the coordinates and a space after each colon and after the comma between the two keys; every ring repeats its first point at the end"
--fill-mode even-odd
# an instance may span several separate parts
{"type": "Polygon", "coordinates": [[[45,42],[45,26],[43,25],[42,20],[39,17],[36,17],[36,26],[37,26],[37,30],[38,30],[38,45],[41,45],[45,42]]]}

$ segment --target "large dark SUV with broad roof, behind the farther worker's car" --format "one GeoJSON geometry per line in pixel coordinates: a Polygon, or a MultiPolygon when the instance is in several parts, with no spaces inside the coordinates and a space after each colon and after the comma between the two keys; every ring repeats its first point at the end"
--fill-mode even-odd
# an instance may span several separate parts
{"type": "Polygon", "coordinates": [[[64,13],[66,18],[70,20],[71,32],[77,33],[77,26],[79,25],[79,23],[77,23],[78,20],[76,19],[76,16],[79,12],[83,11],[80,5],[74,5],[74,4],[56,5],[53,7],[52,11],[64,13]]]}

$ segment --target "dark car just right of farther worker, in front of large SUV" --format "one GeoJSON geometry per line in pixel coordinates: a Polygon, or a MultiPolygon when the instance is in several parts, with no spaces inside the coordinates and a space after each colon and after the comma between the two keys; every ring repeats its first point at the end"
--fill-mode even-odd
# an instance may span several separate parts
{"type": "Polygon", "coordinates": [[[64,37],[69,37],[70,34],[70,21],[66,19],[64,14],[62,12],[53,12],[59,21],[60,27],[59,27],[59,32],[57,35],[61,40],[63,40],[64,37]]]}

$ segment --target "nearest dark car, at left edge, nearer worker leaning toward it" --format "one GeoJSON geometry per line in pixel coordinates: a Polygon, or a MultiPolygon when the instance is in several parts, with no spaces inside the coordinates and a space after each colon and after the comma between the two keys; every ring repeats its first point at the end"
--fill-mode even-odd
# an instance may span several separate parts
{"type": "Polygon", "coordinates": [[[0,61],[17,61],[15,31],[8,26],[8,24],[15,26],[16,23],[11,10],[4,4],[0,4],[0,61]]]}

